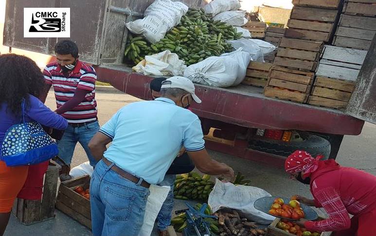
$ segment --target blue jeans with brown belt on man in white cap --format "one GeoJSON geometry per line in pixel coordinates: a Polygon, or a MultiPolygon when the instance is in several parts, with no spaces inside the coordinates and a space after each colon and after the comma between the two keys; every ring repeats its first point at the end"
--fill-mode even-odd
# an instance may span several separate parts
{"type": "Polygon", "coordinates": [[[137,236],[143,225],[148,188],[111,170],[103,160],[95,166],[90,181],[93,236],[137,236]]]}

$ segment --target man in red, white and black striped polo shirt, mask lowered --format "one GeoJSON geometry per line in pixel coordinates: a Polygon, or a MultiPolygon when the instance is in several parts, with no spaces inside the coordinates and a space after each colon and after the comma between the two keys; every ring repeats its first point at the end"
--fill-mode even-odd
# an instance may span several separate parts
{"type": "Polygon", "coordinates": [[[99,130],[95,101],[97,75],[93,67],[78,60],[78,47],[74,42],[60,41],[54,51],[56,62],[48,64],[43,75],[47,88],[54,86],[55,112],[69,122],[58,141],[59,157],[70,165],[74,148],[79,142],[88,155],[90,165],[94,167],[97,161],[91,155],[88,144],[99,130]]]}

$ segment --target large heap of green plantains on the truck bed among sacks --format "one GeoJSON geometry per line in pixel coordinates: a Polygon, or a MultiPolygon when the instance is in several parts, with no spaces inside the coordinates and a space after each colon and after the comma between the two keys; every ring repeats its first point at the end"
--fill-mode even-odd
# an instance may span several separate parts
{"type": "Polygon", "coordinates": [[[181,17],[179,25],[155,44],[149,43],[141,36],[128,34],[125,56],[133,64],[142,61],[145,55],[152,55],[170,50],[178,54],[179,59],[189,66],[210,56],[219,56],[233,51],[233,46],[226,40],[242,37],[236,28],[220,20],[213,20],[204,10],[190,8],[181,17]]]}

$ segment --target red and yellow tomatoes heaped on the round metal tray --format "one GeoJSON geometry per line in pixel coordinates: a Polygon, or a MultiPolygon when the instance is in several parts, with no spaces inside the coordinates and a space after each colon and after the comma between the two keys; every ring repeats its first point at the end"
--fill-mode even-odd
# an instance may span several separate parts
{"type": "Polygon", "coordinates": [[[288,204],[285,204],[282,198],[276,198],[270,207],[269,214],[290,219],[304,218],[304,211],[295,196],[291,197],[288,204]]]}

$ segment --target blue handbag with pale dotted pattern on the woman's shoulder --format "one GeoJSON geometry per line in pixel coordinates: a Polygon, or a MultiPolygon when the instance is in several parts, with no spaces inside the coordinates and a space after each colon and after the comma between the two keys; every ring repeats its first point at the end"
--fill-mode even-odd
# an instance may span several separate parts
{"type": "Polygon", "coordinates": [[[23,122],[11,126],[1,146],[1,160],[8,167],[34,165],[58,154],[57,145],[38,122],[25,122],[25,101],[22,101],[23,122]]]}

